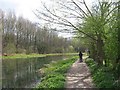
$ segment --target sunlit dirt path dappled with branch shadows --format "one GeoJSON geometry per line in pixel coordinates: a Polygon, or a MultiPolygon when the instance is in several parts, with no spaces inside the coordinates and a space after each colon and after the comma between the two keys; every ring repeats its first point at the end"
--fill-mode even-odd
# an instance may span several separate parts
{"type": "Polygon", "coordinates": [[[66,88],[93,88],[91,74],[86,63],[77,60],[67,73],[66,88]]]}

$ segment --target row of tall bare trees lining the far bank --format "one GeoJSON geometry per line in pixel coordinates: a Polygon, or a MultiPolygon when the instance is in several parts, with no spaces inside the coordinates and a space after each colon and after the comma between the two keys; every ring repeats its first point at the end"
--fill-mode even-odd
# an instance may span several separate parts
{"type": "Polygon", "coordinates": [[[0,11],[3,53],[63,53],[69,52],[70,41],[58,37],[48,27],[40,27],[13,12],[0,11]]]}

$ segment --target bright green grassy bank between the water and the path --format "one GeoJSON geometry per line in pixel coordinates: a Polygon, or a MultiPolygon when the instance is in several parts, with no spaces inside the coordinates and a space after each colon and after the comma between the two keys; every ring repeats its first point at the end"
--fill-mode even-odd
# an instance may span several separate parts
{"type": "Polygon", "coordinates": [[[78,57],[52,62],[40,70],[43,74],[41,82],[36,86],[41,88],[64,88],[66,72],[78,57]]]}

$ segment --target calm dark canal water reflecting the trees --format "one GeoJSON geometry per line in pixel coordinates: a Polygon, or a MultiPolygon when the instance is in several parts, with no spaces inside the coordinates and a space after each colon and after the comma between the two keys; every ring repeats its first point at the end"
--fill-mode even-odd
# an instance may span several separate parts
{"type": "Polygon", "coordinates": [[[48,56],[25,59],[2,60],[2,88],[31,88],[40,81],[37,72],[45,64],[65,59],[69,56],[48,56]]]}

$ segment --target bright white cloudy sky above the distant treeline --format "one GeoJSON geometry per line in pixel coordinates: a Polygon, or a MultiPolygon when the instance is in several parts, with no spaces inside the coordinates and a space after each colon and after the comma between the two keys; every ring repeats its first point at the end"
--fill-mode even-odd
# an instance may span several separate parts
{"type": "MultiPolygon", "coordinates": [[[[32,22],[39,22],[33,11],[41,9],[41,1],[48,5],[56,0],[0,0],[0,9],[3,11],[12,10],[17,16],[23,16],[32,22]]],[[[87,5],[91,5],[93,0],[85,0],[87,5]]]]}

